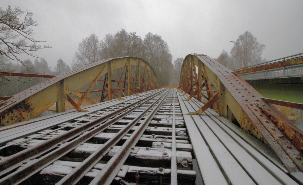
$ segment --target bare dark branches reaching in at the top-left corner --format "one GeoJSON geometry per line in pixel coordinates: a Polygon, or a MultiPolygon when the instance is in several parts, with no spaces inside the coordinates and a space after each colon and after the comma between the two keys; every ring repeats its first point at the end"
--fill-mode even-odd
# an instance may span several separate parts
{"type": "Polygon", "coordinates": [[[8,5],[5,10],[0,7],[0,54],[18,60],[24,66],[26,66],[25,61],[18,59],[17,55],[26,53],[39,58],[34,55],[35,51],[51,48],[49,45],[39,45],[39,42],[45,41],[37,41],[33,38],[34,30],[31,27],[38,24],[32,19],[32,15],[32,12],[24,12],[17,6],[12,8],[8,5]]]}

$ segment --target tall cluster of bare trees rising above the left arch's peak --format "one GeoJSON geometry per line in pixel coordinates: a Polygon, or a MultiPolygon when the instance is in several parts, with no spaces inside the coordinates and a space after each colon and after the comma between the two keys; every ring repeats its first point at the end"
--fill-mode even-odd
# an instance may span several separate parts
{"type": "Polygon", "coordinates": [[[167,86],[174,73],[172,55],[168,44],[160,35],[149,32],[142,39],[136,32],[127,33],[124,29],[107,34],[103,39],[95,34],[79,42],[75,57],[72,60],[72,69],[97,62],[101,59],[114,57],[135,56],[151,64],[158,78],[160,86],[167,86]]]}

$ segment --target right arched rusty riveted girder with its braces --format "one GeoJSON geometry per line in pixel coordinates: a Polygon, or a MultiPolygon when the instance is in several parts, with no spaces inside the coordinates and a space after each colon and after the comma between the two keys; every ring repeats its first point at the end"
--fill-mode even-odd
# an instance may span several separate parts
{"type": "Polygon", "coordinates": [[[209,56],[189,54],[182,64],[178,89],[190,95],[184,101],[192,97],[201,101],[202,96],[208,101],[199,111],[188,114],[200,115],[207,108],[213,108],[234,123],[236,119],[241,129],[268,144],[290,173],[303,171],[303,132],[230,69],[209,56]],[[217,91],[211,89],[210,84],[217,91]],[[206,89],[202,89],[204,86],[206,89]],[[202,91],[206,91],[207,96],[202,91]]]}

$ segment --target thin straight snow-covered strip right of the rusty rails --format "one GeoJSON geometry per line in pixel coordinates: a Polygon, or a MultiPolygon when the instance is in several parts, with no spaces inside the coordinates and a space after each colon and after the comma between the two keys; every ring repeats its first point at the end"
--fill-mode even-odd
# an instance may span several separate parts
{"type": "Polygon", "coordinates": [[[173,114],[171,135],[171,184],[177,185],[177,147],[176,147],[176,116],[175,116],[175,89],[173,90],[173,114]]]}

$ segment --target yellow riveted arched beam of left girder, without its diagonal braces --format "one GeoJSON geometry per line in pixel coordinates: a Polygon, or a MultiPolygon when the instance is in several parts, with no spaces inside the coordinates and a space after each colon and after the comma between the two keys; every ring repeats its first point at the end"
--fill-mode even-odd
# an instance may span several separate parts
{"type": "MultiPolygon", "coordinates": [[[[130,66],[137,67],[138,64],[144,67],[146,69],[146,73],[148,72],[151,74],[153,76],[153,79],[156,80],[157,85],[155,85],[153,88],[159,88],[155,71],[145,60],[137,57],[103,59],[82,68],[75,69],[71,72],[67,72],[55,76],[51,79],[45,80],[44,82],[32,86],[31,88],[28,88],[16,94],[15,96],[12,96],[11,98],[1,102],[1,126],[7,126],[35,118],[55,103],[57,103],[58,112],[65,111],[65,93],[67,95],[74,93],[77,89],[94,81],[96,78],[98,79],[98,76],[102,76],[107,73],[111,74],[112,70],[123,68],[127,61],[129,61],[128,68],[130,68],[130,66]]],[[[105,81],[108,81],[108,84],[105,84],[105,86],[108,85],[108,87],[112,89],[110,85],[112,83],[112,75],[107,75],[107,79],[108,80],[105,78],[105,81]]],[[[144,82],[146,83],[147,81],[144,82]]],[[[147,87],[146,84],[145,86],[147,87]]],[[[108,92],[108,98],[111,99],[112,91],[110,90],[108,92]]],[[[106,96],[102,97],[104,98],[106,96]]],[[[82,100],[87,99],[84,97],[82,100]]]]}

